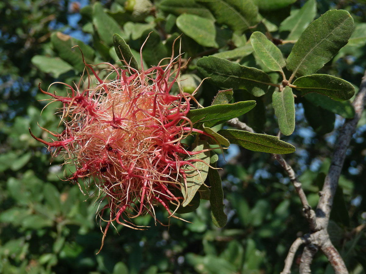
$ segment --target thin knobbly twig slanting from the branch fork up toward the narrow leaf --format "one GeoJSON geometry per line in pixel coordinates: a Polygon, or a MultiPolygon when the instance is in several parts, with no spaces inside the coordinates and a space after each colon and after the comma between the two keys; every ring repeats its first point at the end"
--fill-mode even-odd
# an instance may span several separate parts
{"type": "Polygon", "coordinates": [[[291,165],[289,165],[285,159],[279,154],[273,154],[275,159],[280,163],[280,165],[284,168],[284,170],[287,172],[288,177],[290,178],[292,184],[294,184],[295,190],[297,194],[300,197],[300,201],[303,206],[303,212],[305,214],[305,217],[307,221],[309,222],[310,229],[315,231],[316,230],[316,218],[315,218],[315,212],[313,209],[311,209],[311,206],[309,205],[309,202],[307,201],[306,195],[304,190],[302,189],[301,183],[296,178],[295,171],[292,169],[291,165]]]}

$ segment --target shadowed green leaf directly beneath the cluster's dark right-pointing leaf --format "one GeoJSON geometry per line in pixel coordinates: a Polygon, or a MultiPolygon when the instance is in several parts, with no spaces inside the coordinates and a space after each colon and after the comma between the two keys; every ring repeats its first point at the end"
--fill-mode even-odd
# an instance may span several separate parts
{"type": "Polygon", "coordinates": [[[339,102],[330,99],[328,96],[317,93],[309,93],[306,94],[304,97],[315,106],[322,107],[323,109],[341,115],[343,118],[351,119],[355,116],[355,109],[353,108],[351,102],[348,100],[339,102]]]}

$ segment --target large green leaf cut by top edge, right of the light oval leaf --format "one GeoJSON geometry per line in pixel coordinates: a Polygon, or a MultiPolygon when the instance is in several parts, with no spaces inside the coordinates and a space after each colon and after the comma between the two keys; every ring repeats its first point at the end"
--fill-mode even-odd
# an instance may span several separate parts
{"type": "Polygon", "coordinates": [[[258,8],[251,0],[198,0],[215,15],[217,22],[239,33],[254,26],[258,8]]]}

